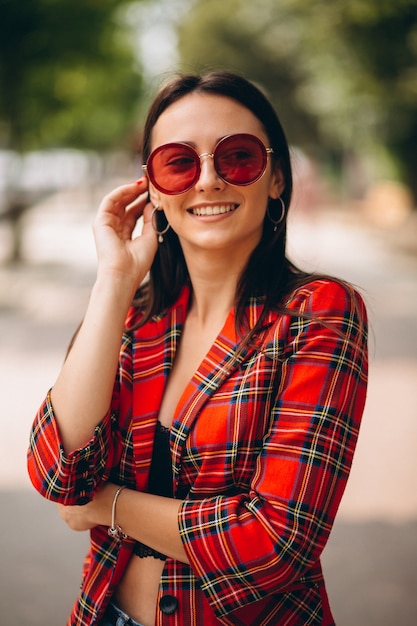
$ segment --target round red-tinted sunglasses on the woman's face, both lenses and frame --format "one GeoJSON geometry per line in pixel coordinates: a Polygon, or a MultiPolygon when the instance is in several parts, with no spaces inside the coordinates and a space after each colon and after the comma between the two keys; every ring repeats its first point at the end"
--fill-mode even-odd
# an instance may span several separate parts
{"type": "Polygon", "coordinates": [[[268,154],[273,152],[255,135],[239,133],[220,139],[211,154],[197,154],[186,143],[166,143],[156,148],[142,167],[156,189],[173,196],[196,184],[203,157],[213,159],[214,169],[224,182],[251,185],[263,175],[268,154]]]}

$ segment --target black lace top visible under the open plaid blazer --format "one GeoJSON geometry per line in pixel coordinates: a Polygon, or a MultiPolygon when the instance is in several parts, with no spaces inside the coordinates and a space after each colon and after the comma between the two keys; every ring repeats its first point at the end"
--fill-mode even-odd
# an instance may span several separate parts
{"type": "MultiPolygon", "coordinates": [[[[172,465],[169,448],[169,433],[169,428],[157,422],[148,491],[156,496],[172,498],[172,465]]],[[[155,559],[161,559],[162,561],[166,559],[164,554],[149,548],[140,541],[135,543],[133,552],[141,558],[153,556],[155,559]]]]}

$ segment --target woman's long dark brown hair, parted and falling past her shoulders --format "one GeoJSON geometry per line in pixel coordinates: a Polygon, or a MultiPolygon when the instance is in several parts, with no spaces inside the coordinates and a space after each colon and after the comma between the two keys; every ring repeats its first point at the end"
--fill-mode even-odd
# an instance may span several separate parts
{"type": "MultiPolygon", "coordinates": [[[[287,212],[292,195],[292,172],[288,142],[279,118],[268,98],[252,82],[243,76],[227,71],[215,71],[204,75],[179,75],[166,84],[156,96],[146,119],[142,157],[151,152],[152,130],[159,116],[174,102],[190,93],[226,96],[239,102],[261,122],[273,148],[273,164],[279,168],[285,181],[281,194],[285,215],[278,228],[266,216],[262,237],[253,250],[240,277],[235,298],[236,327],[246,338],[252,337],[262,327],[271,309],[282,309],[286,297],[299,285],[308,282],[311,275],[299,270],[286,257],[287,212]],[[249,333],[245,309],[250,298],[262,298],[263,313],[249,333]]],[[[269,200],[269,212],[280,216],[279,199],[269,200]]],[[[162,228],[163,226],[161,226],[162,228]]],[[[178,298],[183,286],[189,281],[187,266],[179,239],[172,229],[164,235],[158,247],[148,283],[138,292],[136,304],[143,309],[141,325],[154,315],[162,313],[178,298]]],[[[246,343],[246,342],[245,342],[246,343]]]]}

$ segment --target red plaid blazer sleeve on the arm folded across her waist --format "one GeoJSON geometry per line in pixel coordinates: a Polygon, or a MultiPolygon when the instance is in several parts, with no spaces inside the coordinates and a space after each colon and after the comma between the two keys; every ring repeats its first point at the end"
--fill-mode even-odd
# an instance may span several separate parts
{"type": "Polygon", "coordinates": [[[179,511],[191,567],[218,616],[305,583],[352,464],[367,383],[363,301],[322,280],[288,307],[299,313],[276,325],[281,377],[248,493],[186,500],[179,511]]]}

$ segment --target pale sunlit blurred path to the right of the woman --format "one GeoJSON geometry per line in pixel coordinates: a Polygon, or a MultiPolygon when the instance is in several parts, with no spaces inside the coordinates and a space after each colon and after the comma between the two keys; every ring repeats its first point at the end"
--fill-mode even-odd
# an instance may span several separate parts
{"type": "MultiPolygon", "coordinates": [[[[416,216],[417,217],[417,216],[416,216]]],[[[289,250],[303,267],[343,277],[365,298],[370,322],[367,404],[340,516],[417,519],[417,221],[371,228],[346,211],[295,214],[289,250]]],[[[416,622],[417,623],[417,622],[416,622]]]]}

